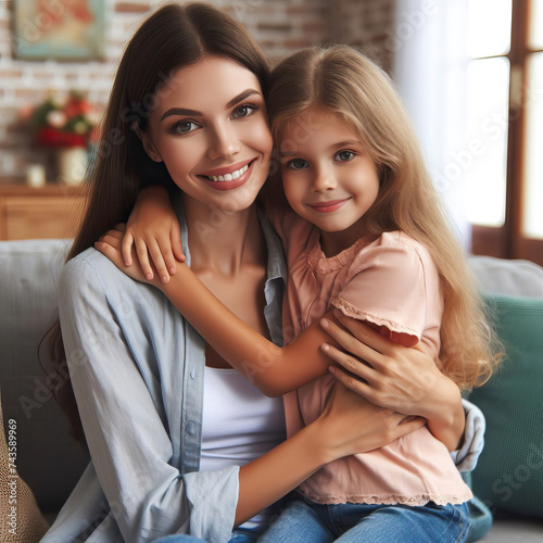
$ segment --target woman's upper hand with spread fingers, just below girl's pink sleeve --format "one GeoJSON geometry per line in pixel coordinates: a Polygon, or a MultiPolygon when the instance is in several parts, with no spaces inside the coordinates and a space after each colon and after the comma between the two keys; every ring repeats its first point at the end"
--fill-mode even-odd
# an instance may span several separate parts
{"type": "Polygon", "coordinates": [[[424,346],[393,343],[340,311],[334,312],[334,317],[344,329],[329,319],[321,323],[344,351],[323,345],[338,364],[330,367],[334,377],[377,405],[426,418],[430,431],[454,451],[464,434],[460,392],[424,346]]]}

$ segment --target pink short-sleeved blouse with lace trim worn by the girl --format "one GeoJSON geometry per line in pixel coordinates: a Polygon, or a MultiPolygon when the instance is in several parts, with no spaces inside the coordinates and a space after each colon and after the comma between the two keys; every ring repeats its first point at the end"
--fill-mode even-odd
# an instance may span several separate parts
{"type": "MultiPolygon", "coordinates": [[[[384,326],[395,341],[420,340],[438,357],[443,301],[438,272],[420,243],[401,231],[386,232],[327,258],[313,225],[293,213],[274,223],[289,265],[286,342],[336,306],[384,326]]],[[[327,375],[285,396],[288,435],[320,415],[333,382],[327,375]]],[[[444,505],[472,496],[447,449],[426,426],[376,451],[328,464],[299,490],[321,504],[444,505]]]]}

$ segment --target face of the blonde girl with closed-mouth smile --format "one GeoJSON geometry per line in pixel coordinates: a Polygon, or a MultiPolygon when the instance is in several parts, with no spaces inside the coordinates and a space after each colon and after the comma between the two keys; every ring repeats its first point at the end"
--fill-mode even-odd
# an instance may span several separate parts
{"type": "Polygon", "coordinates": [[[279,154],[285,193],[300,216],[324,232],[354,240],[365,235],[359,219],[377,198],[379,176],[358,136],[340,117],[316,112],[291,121],[279,154]]]}

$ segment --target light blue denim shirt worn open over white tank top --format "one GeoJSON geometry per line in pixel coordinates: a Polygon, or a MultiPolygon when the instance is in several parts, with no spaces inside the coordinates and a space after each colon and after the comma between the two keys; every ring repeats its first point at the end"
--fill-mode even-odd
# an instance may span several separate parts
{"type": "MultiPolygon", "coordinates": [[[[190,265],[187,226],[177,206],[190,265]]],[[[286,264],[267,219],[265,318],[281,338],[286,264]]],[[[205,343],[154,287],[119,272],[88,249],[70,261],[59,288],[72,383],[91,464],[43,543],[143,543],[191,533],[230,539],[238,471],[198,471],[202,439],[205,343]]],[[[469,406],[473,415],[475,406],[469,406]]],[[[480,413],[480,412],[479,412],[480,413]]],[[[483,418],[468,416],[456,454],[471,469],[482,449],[483,418]]]]}

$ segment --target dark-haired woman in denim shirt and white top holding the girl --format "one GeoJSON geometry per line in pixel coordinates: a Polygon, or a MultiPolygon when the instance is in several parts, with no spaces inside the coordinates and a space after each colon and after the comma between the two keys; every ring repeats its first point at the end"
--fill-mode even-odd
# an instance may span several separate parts
{"type": "MultiPolygon", "coordinates": [[[[281,401],[237,380],[159,291],[88,249],[126,220],[142,174],[166,175],[164,160],[192,269],[231,311],[280,343],[285,264],[280,241],[254,204],[272,152],[267,75],[247,30],[203,4],[162,8],[125,51],[90,204],[60,285],[62,334],[92,463],[46,543],[148,542],[168,533],[223,542],[240,525],[233,538],[252,541],[269,514],[254,516],[320,466],[421,424],[401,424],[401,415],[334,391],[319,419],[279,444],[281,401]],[[162,140],[160,151],[150,131],[162,140]],[[237,173],[231,181],[213,180],[227,172],[237,173]],[[215,392],[215,401],[214,391],[231,396],[215,392]]],[[[414,390],[435,393],[418,377],[420,364],[430,368],[431,361],[371,334],[368,342],[411,368],[404,374],[412,382],[394,380],[389,392],[412,387],[400,393],[405,403],[414,390]]],[[[435,413],[444,419],[459,402],[435,378],[447,392],[435,413]]],[[[465,441],[469,447],[471,439],[465,441]]]]}

